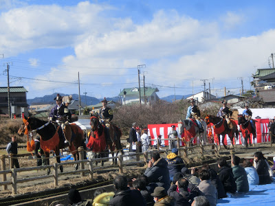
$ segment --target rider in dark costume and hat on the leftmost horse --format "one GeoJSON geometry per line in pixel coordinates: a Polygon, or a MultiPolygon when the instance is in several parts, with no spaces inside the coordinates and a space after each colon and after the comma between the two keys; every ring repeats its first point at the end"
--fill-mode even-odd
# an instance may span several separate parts
{"type": "MultiPolygon", "coordinates": [[[[63,104],[62,98],[63,97],[59,93],[56,95],[56,98],[54,98],[54,100],[56,100],[56,106],[52,108],[50,112],[49,120],[52,122],[52,121],[56,121],[58,118],[67,117],[67,122],[65,122],[65,124],[69,124],[69,122],[71,122],[72,114],[69,112],[69,108],[67,108],[67,106],[63,104]]],[[[69,141],[65,139],[65,136],[63,133],[63,129],[65,125],[61,124],[60,122],[58,122],[58,125],[61,126],[61,128],[58,130],[58,135],[59,137],[61,137],[61,140],[64,141],[63,146],[67,147],[69,146],[69,141]]]]}

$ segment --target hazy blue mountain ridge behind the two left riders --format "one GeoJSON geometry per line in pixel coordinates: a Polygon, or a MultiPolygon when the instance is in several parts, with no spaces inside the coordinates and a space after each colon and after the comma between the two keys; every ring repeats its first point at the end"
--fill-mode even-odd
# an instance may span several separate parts
{"type": "MultiPolygon", "coordinates": [[[[64,93],[59,93],[62,96],[67,96],[68,94],[64,93]]],[[[34,99],[28,99],[27,103],[29,105],[34,105],[34,104],[55,104],[54,98],[56,98],[57,93],[53,93],[52,95],[45,95],[41,98],[34,98],[34,99]]],[[[73,99],[78,100],[78,94],[73,94],[73,99]]],[[[91,105],[91,104],[98,104],[101,100],[98,100],[97,98],[94,97],[89,97],[85,95],[80,95],[81,102],[91,105]]],[[[107,98],[108,100],[108,98],[107,98]]]]}

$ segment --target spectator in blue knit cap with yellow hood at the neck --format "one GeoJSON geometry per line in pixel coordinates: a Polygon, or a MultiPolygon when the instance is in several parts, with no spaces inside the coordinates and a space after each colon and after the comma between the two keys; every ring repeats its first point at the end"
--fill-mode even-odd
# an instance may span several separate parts
{"type": "Polygon", "coordinates": [[[173,176],[175,173],[181,172],[181,168],[185,167],[184,161],[181,159],[181,157],[177,156],[177,154],[177,148],[173,148],[172,152],[170,152],[170,154],[166,156],[170,181],[173,181],[173,176]]]}

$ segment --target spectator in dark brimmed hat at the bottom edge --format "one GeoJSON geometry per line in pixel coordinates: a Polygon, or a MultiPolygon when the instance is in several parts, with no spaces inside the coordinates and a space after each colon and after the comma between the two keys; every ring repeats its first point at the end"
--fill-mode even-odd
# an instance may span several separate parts
{"type": "Polygon", "coordinates": [[[155,206],[174,206],[173,198],[167,195],[164,187],[155,187],[151,196],[154,197],[155,206]]]}

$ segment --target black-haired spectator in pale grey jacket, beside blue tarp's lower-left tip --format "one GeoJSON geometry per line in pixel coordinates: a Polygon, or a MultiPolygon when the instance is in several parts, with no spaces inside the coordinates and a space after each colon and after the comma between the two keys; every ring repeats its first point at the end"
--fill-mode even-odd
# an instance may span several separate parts
{"type": "Polygon", "coordinates": [[[208,170],[201,170],[199,172],[199,191],[200,194],[206,196],[211,206],[217,205],[218,192],[216,187],[210,183],[210,172],[208,170]]]}

